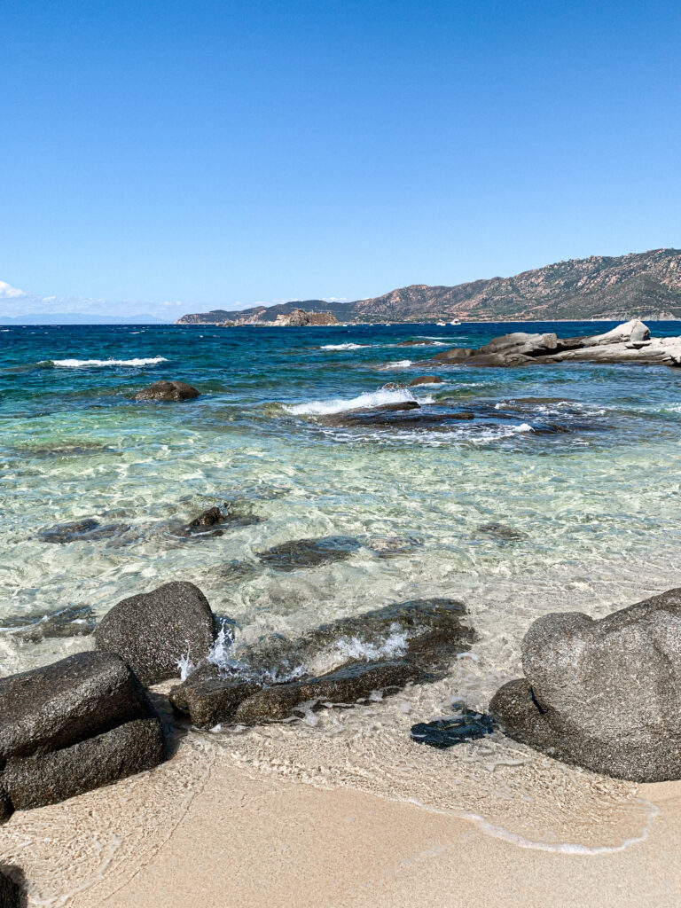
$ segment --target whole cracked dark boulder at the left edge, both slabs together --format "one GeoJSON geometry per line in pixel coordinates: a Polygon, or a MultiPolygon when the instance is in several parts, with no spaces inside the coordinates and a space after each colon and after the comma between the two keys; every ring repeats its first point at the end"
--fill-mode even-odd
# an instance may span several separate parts
{"type": "Polygon", "coordinates": [[[0,679],[0,813],[54,804],[165,759],[137,678],[111,653],[78,653],[0,679]]]}

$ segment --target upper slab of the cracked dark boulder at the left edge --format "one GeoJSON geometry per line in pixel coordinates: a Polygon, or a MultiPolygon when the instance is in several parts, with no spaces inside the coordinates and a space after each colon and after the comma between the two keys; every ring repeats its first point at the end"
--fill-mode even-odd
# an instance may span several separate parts
{"type": "Polygon", "coordinates": [[[128,666],[111,653],[77,653],[0,678],[0,763],[55,750],[152,715],[128,666]]]}

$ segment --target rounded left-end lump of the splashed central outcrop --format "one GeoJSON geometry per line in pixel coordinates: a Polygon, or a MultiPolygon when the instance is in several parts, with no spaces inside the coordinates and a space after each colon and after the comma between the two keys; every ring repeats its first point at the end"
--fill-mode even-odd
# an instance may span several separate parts
{"type": "Polygon", "coordinates": [[[170,699],[179,712],[191,717],[194,725],[210,728],[232,722],[243,700],[261,688],[258,681],[237,672],[225,674],[218,666],[205,662],[183,684],[173,688],[170,699]]]}

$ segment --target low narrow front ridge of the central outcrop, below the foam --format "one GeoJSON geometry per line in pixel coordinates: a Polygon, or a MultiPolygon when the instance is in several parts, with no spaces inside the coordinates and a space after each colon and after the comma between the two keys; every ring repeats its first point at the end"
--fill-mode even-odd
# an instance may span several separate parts
{"type": "Polygon", "coordinates": [[[241,725],[256,725],[268,719],[285,719],[297,706],[311,700],[339,704],[356,703],[375,690],[403,687],[418,681],[422,672],[405,659],[390,662],[364,662],[343,666],[327,675],[263,687],[237,708],[234,720],[241,725]]]}

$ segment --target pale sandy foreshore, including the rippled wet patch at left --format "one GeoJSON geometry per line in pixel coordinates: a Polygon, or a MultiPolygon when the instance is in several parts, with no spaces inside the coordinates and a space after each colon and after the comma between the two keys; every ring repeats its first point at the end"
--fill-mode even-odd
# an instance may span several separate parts
{"type": "Polygon", "coordinates": [[[603,853],[560,854],[451,811],[235,765],[188,735],[151,773],[15,814],[1,857],[49,908],[676,908],[681,783],[631,787],[645,810],[594,832],[603,853]]]}

